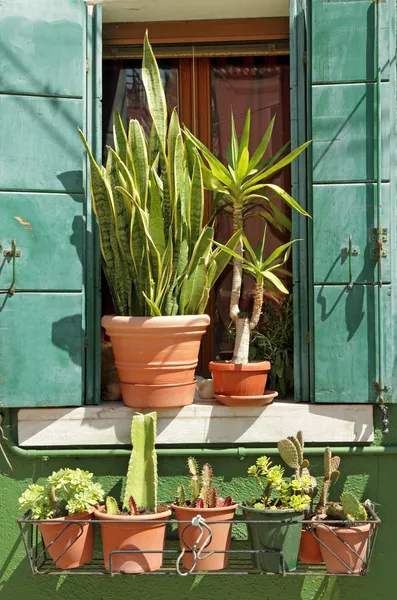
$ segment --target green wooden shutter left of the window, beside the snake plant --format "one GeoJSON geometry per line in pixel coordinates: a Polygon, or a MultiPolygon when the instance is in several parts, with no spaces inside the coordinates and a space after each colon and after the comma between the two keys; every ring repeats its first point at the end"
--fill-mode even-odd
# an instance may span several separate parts
{"type": "Polygon", "coordinates": [[[86,380],[95,400],[98,274],[77,132],[95,146],[89,12],[83,0],[0,5],[0,406],[79,405],[86,380]]]}

